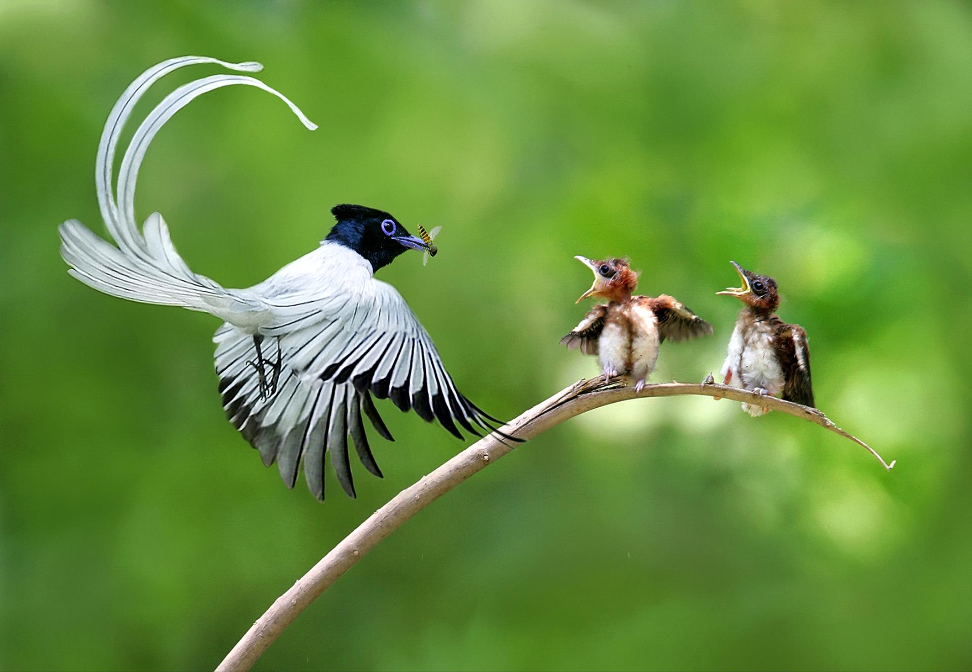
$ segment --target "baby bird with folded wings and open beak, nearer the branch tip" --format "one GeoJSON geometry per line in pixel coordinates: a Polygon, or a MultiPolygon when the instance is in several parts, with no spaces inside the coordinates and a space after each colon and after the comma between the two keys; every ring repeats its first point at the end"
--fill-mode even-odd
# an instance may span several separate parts
{"type": "MultiPolygon", "coordinates": [[[[722,384],[773,397],[782,393],[787,402],[814,407],[807,332],[777,317],[780,295],[776,280],[756,275],[736,262],[732,265],[742,279],[742,287],[730,287],[716,294],[736,297],[746,307],[729,339],[722,384]]],[[[744,404],[743,410],[757,417],[770,409],[744,404]]]]}

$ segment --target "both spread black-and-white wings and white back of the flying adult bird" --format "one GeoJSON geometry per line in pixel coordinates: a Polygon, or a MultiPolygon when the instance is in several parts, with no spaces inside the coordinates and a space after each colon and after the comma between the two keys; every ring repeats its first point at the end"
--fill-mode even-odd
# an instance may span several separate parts
{"type": "MultiPolygon", "coordinates": [[[[390,398],[427,421],[437,419],[463,438],[457,424],[479,436],[500,420],[475,407],[442,365],[432,338],[394,287],[355,271],[357,254],[333,243],[285,267],[265,283],[241,292],[265,293],[277,322],[260,333],[264,359],[280,348],[282,373],[276,393],[260,397],[254,338],[230,324],[214,340],[216,370],[226,416],[260,450],[267,466],[277,462],[293,487],[299,465],[311,492],[324,499],[324,454],[344,490],[354,496],[348,435],[364,467],[381,476],[364,434],[362,414],[378,433],[394,441],[371,395],[390,398]],[[334,249],[336,248],[336,249],[334,249]],[[318,284],[327,260],[347,271],[318,284]],[[338,279],[335,279],[338,278],[338,279]],[[308,291],[316,288],[315,291],[308,291]],[[306,312],[307,308],[311,308],[306,312]],[[294,310],[284,317],[285,310],[294,310]]],[[[362,260],[364,265],[366,263],[362,260]]],[[[328,275],[329,273],[325,273],[328,275]]]]}

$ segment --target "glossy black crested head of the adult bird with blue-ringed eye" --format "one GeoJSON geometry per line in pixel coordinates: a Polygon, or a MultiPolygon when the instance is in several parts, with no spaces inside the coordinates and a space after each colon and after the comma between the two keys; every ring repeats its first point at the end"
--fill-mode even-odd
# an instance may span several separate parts
{"type": "Polygon", "coordinates": [[[384,210],[364,205],[335,205],[330,213],[337,224],[330,228],[327,240],[351,248],[378,270],[395,261],[407,249],[430,250],[429,244],[417,238],[384,210]]]}

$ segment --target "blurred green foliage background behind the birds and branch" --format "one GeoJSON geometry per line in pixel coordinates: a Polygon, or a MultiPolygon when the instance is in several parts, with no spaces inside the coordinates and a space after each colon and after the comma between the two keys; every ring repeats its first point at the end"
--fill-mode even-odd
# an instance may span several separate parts
{"type": "MultiPolygon", "coordinates": [[[[159,134],[140,219],[256,283],[329,208],[444,225],[381,271],[460,387],[511,417],[581,376],[573,255],[628,255],[715,336],[735,259],[776,276],[816,426],[703,398],[530,442],[410,521],[258,669],[968,669],[972,6],[957,2],[0,0],[0,668],[211,668],[375,508],[463,447],[381,403],[384,480],[294,491],[226,422],[213,318],[71,279],[123,88],[257,59],[159,134]]],[[[189,79],[164,80],[139,107],[189,79]]],[[[130,128],[129,128],[130,132],[130,128]]],[[[373,435],[373,433],[372,433],[373,435]]]]}

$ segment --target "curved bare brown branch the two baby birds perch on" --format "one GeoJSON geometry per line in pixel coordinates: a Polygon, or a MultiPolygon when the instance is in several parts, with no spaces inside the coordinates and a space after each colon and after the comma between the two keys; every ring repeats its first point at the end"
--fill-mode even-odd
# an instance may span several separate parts
{"type": "MultiPolygon", "coordinates": [[[[639,394],[634,388],[623,387],[615,380],[607,382],[604,378],[581,380],[509,422],[503,427],[503,431],[520,439],[532,439],[554,425],[594,408],[642,397],[683,395],[748,402],[803,418],[862,445],[881,461],[885,469],[890,470],[894,466],[893,460],[887,464],[871,446],[842,430],[816,408],[804,407],[775,397],[760,396],[738,387],[716,385],[708,381],[703,384],[680,382],[649,384],[639,394]]],[[[501,442],[496,435],[490,435],[470,445],[432,474],[421,477],[418,482],[399,492],[388,504],[372,513],[354,532],[331,548],[320,562],[277,598],[216,669],[218,671],[249,670],[297,615],[341,575],[351,569],[365,553],[377,546],[410,517],[476,472],[496,462],[514,446],[514,443],[501,442]]]]}

